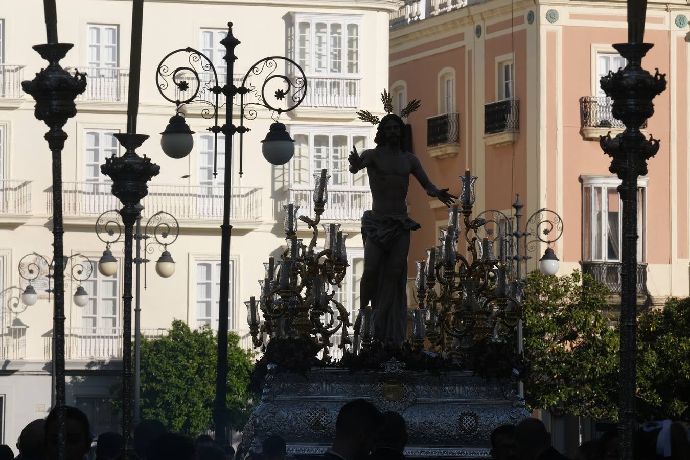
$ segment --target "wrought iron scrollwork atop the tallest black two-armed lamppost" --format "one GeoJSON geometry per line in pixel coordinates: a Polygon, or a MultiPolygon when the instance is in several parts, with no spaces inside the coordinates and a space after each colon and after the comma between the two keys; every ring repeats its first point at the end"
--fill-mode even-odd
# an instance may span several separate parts
{"type": "Polygon", "coordinates": [[[161,96],[177,106],[179,114],[182,107],[188,104],[206,104],[210,106],[201,111],[205,119],[213,119],[214,125],[208,131],[214,134],[214,158],[213,177],[217,176],[217,144],[218,134],[231,136],[239,133],[239,175],[242,176],[242,146],[243,135],[249,130],[244,126],[244,120],[253,120],[257,117],[257,107],[263,107],[271,112],[273,119],[277,121],[281,114],[290,112],[299,106],[306,97],[306,74],[299,65],[283,56],[270,56],[260,59],[244,74],[242,84],[235,86],[233,75],[226,75],[227,84],[220,86],[218,73],[213,63],[206,55],[195,48],[180,48],[166,54],[156,69],[156,86],[161,96]],[[174,61],[179,53],[188,53],[185,63],[174,66],[169,61],[174,61]],[[284,61],[287,71],[278,72],[278,63],[284,61]],[[212,74],[211,81],[202,81],[200,74],[212,74]],[[264,77],[260,87],[248,83],[250,77],[264,77]],[[190,85],[191,82],[191,85],[190,85]],[[170,94],[172,91],[172,95],[170,94]],[[204,99],[204,94],[214,94],[214,101],[204,99]],[[246,94],[253,95],[253,101],[246,102],[246,94]],[[182,99],[181,94],[189,94],[182,99]],[[219,126],[218,111],[227,103],[219,103],[219,95],[226,98],[239,94],[239,126],[219,126]]]}

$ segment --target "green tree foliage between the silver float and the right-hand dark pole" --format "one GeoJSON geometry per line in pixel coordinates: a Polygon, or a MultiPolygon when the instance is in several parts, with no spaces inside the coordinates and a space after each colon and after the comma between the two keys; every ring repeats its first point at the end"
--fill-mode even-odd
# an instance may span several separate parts
{"type": "Polygon", "coordinates": [[[609,290],[575,270],[531,272],[524,289],[524,377],[529,410],[558,408],[615,419],[618,331],[604,311],[609,290]]]}

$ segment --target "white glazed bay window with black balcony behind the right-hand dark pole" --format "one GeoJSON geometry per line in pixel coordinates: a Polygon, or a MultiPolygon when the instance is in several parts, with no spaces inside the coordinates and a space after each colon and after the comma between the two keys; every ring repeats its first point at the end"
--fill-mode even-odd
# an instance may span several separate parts
{"type": "MultiPolygon", "coordinates": [[[[582,271],[620,292],[622,201],[616,177],[582,176],[582,271]]],[[[646,283],[647,178],[638,179],[638,290],[646,283]],[[640,286],[641,285],[641,286],[640,286]]]]}

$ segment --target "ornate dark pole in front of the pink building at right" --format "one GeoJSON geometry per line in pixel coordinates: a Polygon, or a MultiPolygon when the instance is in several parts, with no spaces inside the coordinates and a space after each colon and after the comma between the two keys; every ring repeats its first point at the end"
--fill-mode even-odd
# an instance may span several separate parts
{"type": "Polygon", "coordinates": [[[637,334],[637,184],[647,174],[647,160],[659,150],[658,139],[645,139],[640,126],[654,113],[652,100],[666,89],[665,74],[657,69],[654,75],[642,68],[642,58],[653,46],[644,43],[644,19],[647,0],[628,0],[628,43],[613,48],[627,60],[618,72],[609,72],[601,79],[602,90],[613,100],[613,117],[622,121],[625,130],[615,138],[611,133],[601,137],[600,146],[612,158],[609,170],[618,174],[622,201],[623,241],[620,269],[620,439],[621,459],[633,458],[636,373],[635,342],[637,334]]]}

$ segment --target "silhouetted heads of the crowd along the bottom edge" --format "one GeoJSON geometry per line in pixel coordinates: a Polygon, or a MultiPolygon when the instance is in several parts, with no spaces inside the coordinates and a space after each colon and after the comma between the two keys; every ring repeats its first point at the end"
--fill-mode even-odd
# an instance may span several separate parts
{"type": "MultiPolygon", "coordinates": [[[[66,460],[84,460],[90,452],[93,436],[86,414],[77,408],[66,410],[66,460]]],[[[17,442],[19,457],[9,446],[0,446],[0,460],[57,460],[57,410],[46,419],[29,423],[17,442]]],[[[277,435],[262,443],[260,452],[248,448],[217,446],[210,436],[191,439],[167,432],[163,423],[144,420],[133,433],[134,455],[138,460],[287,460],[286,441],[277,435]]],[[[364,399],[342,406],[335,421],[335,439],[322,460],[404,460],[408,443],[406,423],[397,412],[380,412],[364,399]]],[[[439,440],[440,446],[446,445],[439,440]]],[[[115,432],[99,434],[95,460],[118,460],[122,437],[115,432]]],[[[686,423],[670,420],[645,423],[634,437],[634,460],[690,460],[690,428],[686,423]]],[[[491,433],[493,460],[569,460],[551,445],[551,434],[540,419],[529,418],[517,425],[499,426],[491,433]]],[[[573,460],[628,460],[620,458],[620,436],[617,430],[604,433],[600,439],[580,445],[573,460]]]]}

